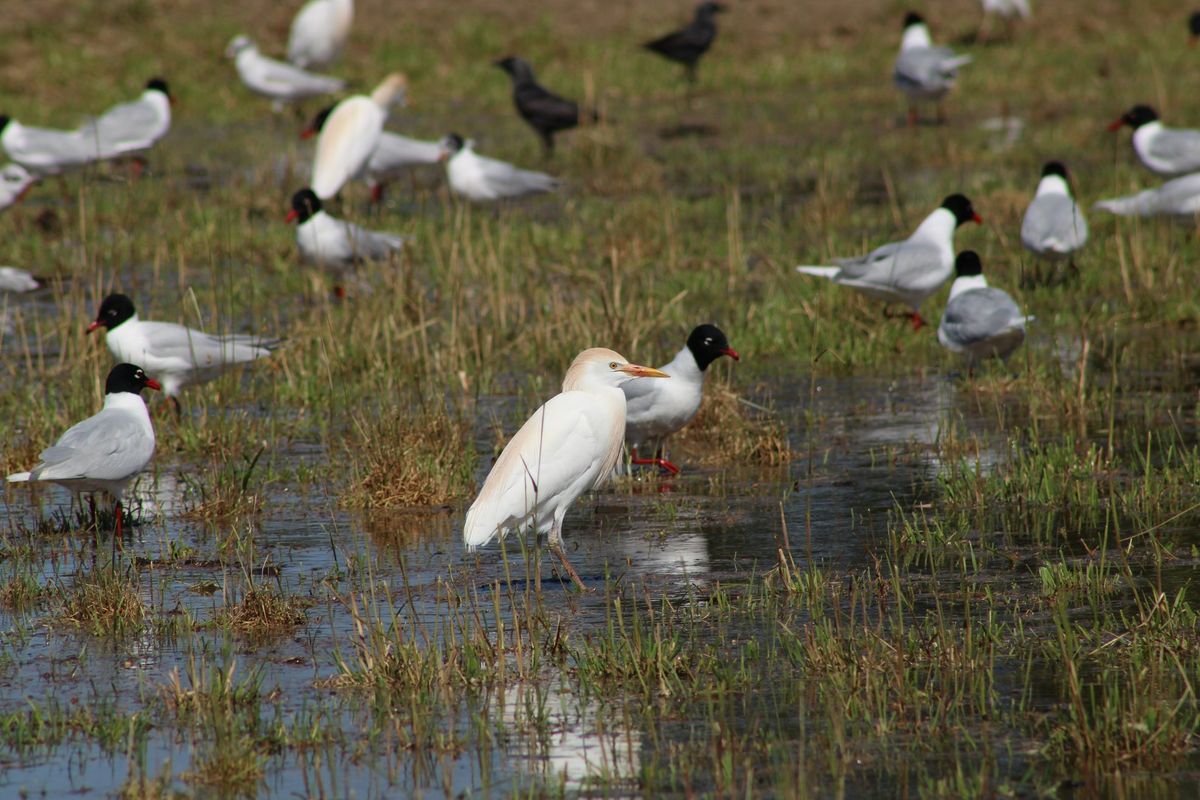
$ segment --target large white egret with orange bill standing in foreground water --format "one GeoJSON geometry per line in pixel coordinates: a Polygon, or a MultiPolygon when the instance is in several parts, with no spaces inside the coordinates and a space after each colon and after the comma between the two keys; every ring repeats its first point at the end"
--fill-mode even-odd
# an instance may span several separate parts
{"type": "Polygon", "coordinates": [[[509,440],[467,511],[462,537],[468,552],[526,525],[538,534],[550,531],[551,549],[576,585],[584,588],[563,552],[563,518],[617,465],[625,440],[620,387],[635,378],[667,374],[629,363],[605,348],[575,357],[563,392],[546,401],[509,440]]]}

